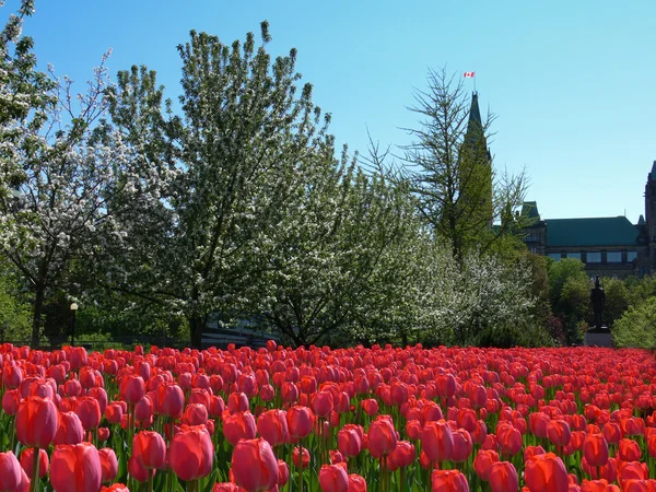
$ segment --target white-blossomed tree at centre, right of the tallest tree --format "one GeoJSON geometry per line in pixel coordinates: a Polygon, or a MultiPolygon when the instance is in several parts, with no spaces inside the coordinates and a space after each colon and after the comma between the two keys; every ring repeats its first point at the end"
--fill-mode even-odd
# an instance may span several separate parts
{"type": "MultiPolygon", "coordinates": [[[[295,344],[364,338],[391,308],[415,224],[407,188],[332,150],[306,162],[276,233],[265,318],[295,344]],[[398,280],[397,280],[398,279],[398,280]]],[[[396,303],[394,303],[396,306],[396,303]]]]}

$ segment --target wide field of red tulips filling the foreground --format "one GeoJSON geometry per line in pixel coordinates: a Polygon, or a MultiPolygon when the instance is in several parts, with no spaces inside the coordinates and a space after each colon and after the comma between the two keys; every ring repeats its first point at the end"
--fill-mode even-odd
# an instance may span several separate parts
{"type": "Polygon", "coordinates": [[[3,491],[656,491],[641,350],[0,345],[3,491]]]}

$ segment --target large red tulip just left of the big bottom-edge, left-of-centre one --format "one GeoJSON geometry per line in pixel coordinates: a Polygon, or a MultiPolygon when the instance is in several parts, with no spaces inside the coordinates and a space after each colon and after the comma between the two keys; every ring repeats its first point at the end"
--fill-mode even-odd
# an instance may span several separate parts
{"type": "Polygon", "coordinates": [[[180,479],[189,481],[207,477],[212,471],[214,446],[203,426],[181,425],[168,449],[168,465],[180,479]]]}

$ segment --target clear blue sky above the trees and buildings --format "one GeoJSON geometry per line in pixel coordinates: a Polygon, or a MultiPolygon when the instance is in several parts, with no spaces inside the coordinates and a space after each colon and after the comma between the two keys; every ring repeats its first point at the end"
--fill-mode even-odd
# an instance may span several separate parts
{"type": "Polygon", "coordinates": [[[39,63],[80,91],[113,48],[113,74],[147,65],[175,97],[176,45],[189,30],[232,43],[265,19],[270,52],[298,49],[297,70],[340,144],[366,151],[367,127],[383,147],[409,143],[400,128],[417,126],[407,107],[427,68],[476,71],[481,109],[497,115],[494,165],[526,167],[542,218],[625,211],[635,223],[644,213],[656,160],[653,0],[36,0],[24,32],[39,63]]]}

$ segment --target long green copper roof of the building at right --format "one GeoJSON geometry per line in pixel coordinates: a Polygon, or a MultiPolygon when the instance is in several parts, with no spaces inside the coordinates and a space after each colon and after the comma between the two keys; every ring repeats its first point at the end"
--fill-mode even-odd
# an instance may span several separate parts
{"type": "Polygon", "coordinates": [[[547,246],[634,246],[639,230],[625,216],[548,219],[547,246]]]}

